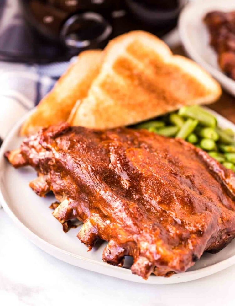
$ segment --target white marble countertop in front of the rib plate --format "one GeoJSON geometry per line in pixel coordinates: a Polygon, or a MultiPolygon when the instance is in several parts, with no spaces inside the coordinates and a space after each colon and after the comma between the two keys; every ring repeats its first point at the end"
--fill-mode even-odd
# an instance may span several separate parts
{"type": "MultiPolygon", "coordinates": [[[[144,285],[71,266],[28,241],[0,209],[0,304],[234,305],[235,266],[175,285],[144,285]]],[[[79,241],[78,241],[79,243],[79,241]]]]}

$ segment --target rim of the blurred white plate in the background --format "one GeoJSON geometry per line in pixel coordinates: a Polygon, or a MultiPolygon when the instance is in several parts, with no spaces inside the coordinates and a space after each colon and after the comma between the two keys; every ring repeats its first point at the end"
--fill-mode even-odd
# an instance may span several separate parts
{"type": "MultiPolygon", "coordinates": [[[[232,3],[233,0],[227,0],[232,3]]],[[[215,79],[217,79],[218,82],[221,83],[222,87],[226,89],[230,94],[235,96],[235,81],[229,78],[226,74],[224,74],[221,70],[213,67],[210,63],[206,62],[200,54],[194,49],[193,45],[190,42],[189,36],[187,35],[187,17],[189,14],[192,13],[192,11],[196,8],[200,8],[202,10],[203,8],[206,9],[206,11],[209,11],[210,4],[216,5],[224,3],[224,0],[197,0],[192,1],[188,5],[186,5],[183,10],[180,13],[179,19],[178,19],[178,30],[181,42],[183,44],[183,47],[185,49],[185,52],[187,55],[197,62],[200,66],[204,67],[204,69],[210,73],[215,79]],[[207,10],[208,8],[208,10],[207,10]]],[[[234,2],[233,2],[234,4],[234,2]]],[[[205,13],[206,13],[205,11],[205,13]]],[[[208,42],[208,48],[212,47],[209,45],[208,42]]],[[[213,50],[213,49],[212,49],[213,50]]]]}

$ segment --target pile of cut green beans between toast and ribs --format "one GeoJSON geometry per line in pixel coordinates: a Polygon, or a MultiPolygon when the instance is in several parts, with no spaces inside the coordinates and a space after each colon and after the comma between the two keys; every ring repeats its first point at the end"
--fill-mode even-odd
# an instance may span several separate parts
{"type": "Polygon", "coordinates": [[[169,113],[134,126],[147,129],[166,137],[179,137],[235,172],[235,134],[231,129],[221,129],[216,118],[200,106],[183,106],[179,111],[169,113]]]}

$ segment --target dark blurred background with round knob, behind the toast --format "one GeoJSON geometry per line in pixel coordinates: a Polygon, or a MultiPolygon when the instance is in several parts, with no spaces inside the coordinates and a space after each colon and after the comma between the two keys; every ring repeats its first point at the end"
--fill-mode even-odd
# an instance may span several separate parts
{"type": "Polygon", "coordinates": [[[186,0],[1,0],[0,59],[48,63],[103,48],[130,30],[162,36],[186,0]]]}

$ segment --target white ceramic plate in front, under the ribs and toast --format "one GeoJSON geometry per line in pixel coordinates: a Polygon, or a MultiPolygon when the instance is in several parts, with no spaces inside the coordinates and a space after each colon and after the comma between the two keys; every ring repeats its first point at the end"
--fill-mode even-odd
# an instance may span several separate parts
{"type": "MultiPolygon", "coordinates": [[[[217,113],[212,112],[212,114],[217,117],[221,127],[231,128],[235,131],[235,125],[230,121],[217,113]]],[[[191,281],[235,264],[235,239],[217,254],[205,253],[185,273],[175,274],[169,278],[151,275],[147,281],[131,273],[128,268],[131,262],[130,258],[125,260],[125,268],[102,262],[105,243],[87,252],[87,248],[76,238],[79,228],[70,229],[68,233],[64,233],[61,224],[51,215],[52,211],[48,207],[55,201],[53,196],[40,198],[29,188],[29,181],[36,177],[35,171],[30,167],[16,170],[4,158],[5,151],[19,147],[22,141],[22,138],[18,136],[19,128],[25,119],[26,116],[13,127],[0,150],[0,202],[22,232],[41,249],[74,266],[148,284],[191,281]]]]}

